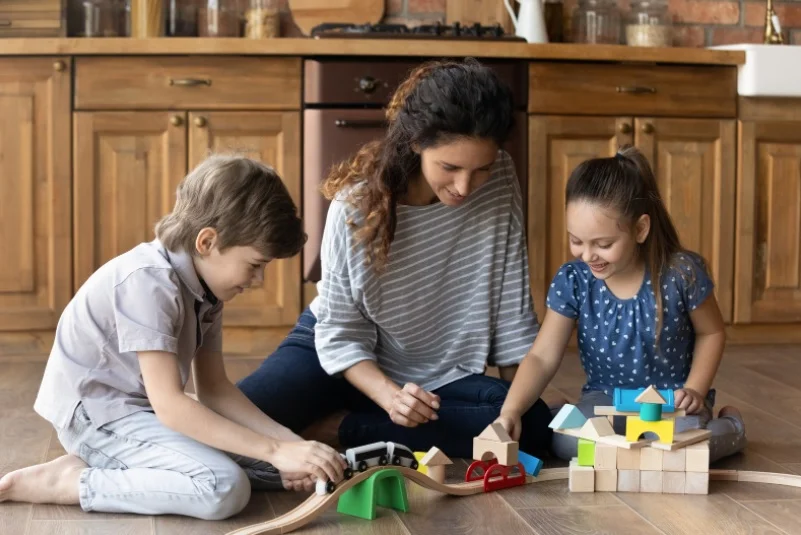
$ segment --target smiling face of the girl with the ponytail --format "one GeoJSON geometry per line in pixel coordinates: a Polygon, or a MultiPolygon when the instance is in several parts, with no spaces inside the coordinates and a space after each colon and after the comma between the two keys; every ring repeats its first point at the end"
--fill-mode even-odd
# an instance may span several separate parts
{"type": "Polygon", "coordinates": [[[570,252],[607,280],[615,274],[638,267],[637,245],[645,241],[650,218],[643,215],[634,225],[621,224],[620,214],[588,201],[567,205],[567,234],[570,252]]]}

